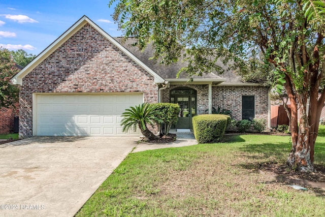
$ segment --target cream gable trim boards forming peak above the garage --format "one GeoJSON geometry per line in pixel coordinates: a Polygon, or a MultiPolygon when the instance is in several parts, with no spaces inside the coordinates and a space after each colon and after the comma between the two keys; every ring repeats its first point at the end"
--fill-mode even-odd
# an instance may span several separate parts
{"type": "Polygon", "coordinates": [[[133,59],[139,66],[146,70],[149,74],[154,77],[155,83],[165,83],[166,80],[145,65],[138,57],[133,53],[129,52],[125,47],[118,43],[114,38],[108,35],[101,27],[96,25],[87,16],[82,16],[75,24],[73,24],[66,32],[64,32],[58,39],[56,39],[51,45],[49,45],[45,50],[43,50],[34,60],[32,60],[26,67],[24,67],[19,73],[17,73],[12,81],[15,84],[22,84],[22,79],[33,69],[35,69],[39,64],[42,63],[49,55],[51,55],[57,48],[59,48],[64,42],[70,39],[75,33],[78,32],[85,24],[90,24],[94,29],[101,33],[107,40],[109,40],[113,45],[123,51],[128,57],[133,59]]]}

